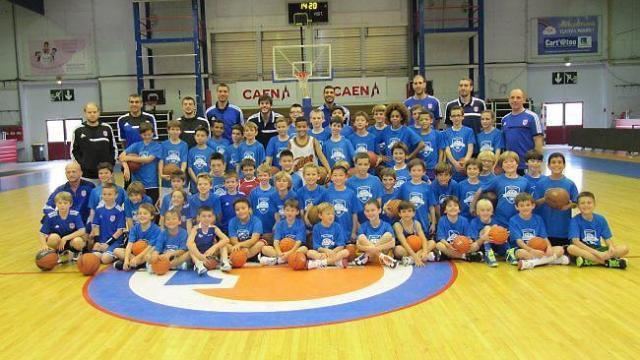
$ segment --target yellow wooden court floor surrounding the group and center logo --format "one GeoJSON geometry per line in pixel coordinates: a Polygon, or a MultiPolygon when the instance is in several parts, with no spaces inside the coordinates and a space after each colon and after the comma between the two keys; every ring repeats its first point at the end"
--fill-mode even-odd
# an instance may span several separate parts
{"type": "Polygon", "coordinates": [[[596,193],[615,239],[630,245],[627,270],[555,266],[519,273],[506,264],[456,263],[453,285],[419,305],[267,331],[167,328],[97,310],[83,298],[87,278],[75,267],[41,273],[34,266],[40,209],[54,184],[0,192],[0,359],[635,358],[640,180],[575,166],[568,175],[596,193]]]}

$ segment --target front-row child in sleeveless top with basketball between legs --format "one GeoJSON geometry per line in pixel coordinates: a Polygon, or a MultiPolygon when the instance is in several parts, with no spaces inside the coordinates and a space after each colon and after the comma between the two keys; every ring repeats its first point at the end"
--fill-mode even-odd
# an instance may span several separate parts
{"type": "Polygon", "coordinates": [[[422,225],[414,216],[416,214],[415,206],[409,201],[400,202],[398,207],[400,220],[393,224],[396,238],[399,245],[394,248],[394,255],[398,259],[402,259],[403,265],[416,265],[422,267],[427,261],[435,261],[439,256],[436,248],[436,242],[429,240],[422,230],[422,225]],[[421,240],[420,248],[413,250],[407,238],[417,236],[421,240]]]}

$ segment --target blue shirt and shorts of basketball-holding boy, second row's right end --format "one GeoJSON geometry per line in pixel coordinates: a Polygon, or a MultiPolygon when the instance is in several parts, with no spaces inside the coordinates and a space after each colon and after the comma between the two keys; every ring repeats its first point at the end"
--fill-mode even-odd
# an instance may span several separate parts
{"type": "MultiPolygon", "coordinates": [[[[544,198],[544,194],[551,188],[565,189],[569,193],[569,199],[572,202],[578,201],[578,188],[576,184],[569,178],[563,176],[559,180],[554,180],[551,177],[545,177],[538,181],[536,185],[536,192],[533,196],[535,199],[544,198]]],[[[551,237],[568,238],[569,237],[569,221],[571,221],[571,209],[569,210],[557,210],[551,206],[543,203],[540,205],[538,212],[547,228],[547,233],[551,237]]]]}

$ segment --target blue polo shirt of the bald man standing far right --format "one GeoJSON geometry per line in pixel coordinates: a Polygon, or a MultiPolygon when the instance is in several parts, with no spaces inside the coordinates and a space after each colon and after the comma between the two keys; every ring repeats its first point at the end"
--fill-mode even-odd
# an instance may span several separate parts
{"type": "Polygon", "coordinates": [[[505,149],[515,151],[520,157],[518,169],[526,168],[525,154],[535,148],[534,136],[543,134],[538,115],[531,110],[517,115],[509,113],[502,118],[502,133],[505,149]]]}

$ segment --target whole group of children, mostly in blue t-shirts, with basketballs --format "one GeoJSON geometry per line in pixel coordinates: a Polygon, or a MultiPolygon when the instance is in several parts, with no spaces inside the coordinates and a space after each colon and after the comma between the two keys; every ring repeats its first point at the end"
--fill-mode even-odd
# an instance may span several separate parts
{"type": "Polygon", "coordinates": [[[544,176],[543,156],[531,150],[527,174],[518,175],[520,158],[502,151],[491,112],[482,113],[482,133],[474,134],[462,125],[459,107],[445,131],[433,129],[433,114],[420,108],[411,110],[415,125],[407,126],[402,104],[375,106],[371,125],[358,112],[345,127],[340,111],[327,128],[319,110],[310,121],[277,118],[277,136],[266,149],[251,122],[234,126],[228,142],[224,123],[214,120],[212,137],[198,128],[191,149],[180,140],[179,122],[169,121],[162,143],[143,123],[143,140],[120,155],[125,180],[131,180],[126,192],[114,184],[111,165],[100,164],[88,219],[69,210],[69,193],[59,193],[56,211],[44,219],[41,245],[84,249],[121,270],[152,271],[149,264],[163,257],[173,269],[200,275],[209,259],[229,271],[236,251],[262,265],[283,264],[302,252],[308,269],[370,261],[424,266],[443,259],[495,267],[499,255],[525,270],[567,265],[567,254],[578,266],[626,267],[628,248],[613,243],[605,218],[594,213],[595,196],[578,193],[563,175],[564,156],[551,154],[551,174],[544,176]],[[140,168],[132,171],[131,162],[140,168]],[[170,173],[169,165],[175,165],[170,173]],[[555,188],[570,197],[560,209],[545,201],[555,188]],[[576,206],[579,214],[572,217],[576,206]],[[506,243],[492,239],[493,226],[509,231],[506,243]],[[408,241],[414,235],[421,240],[417,249],[408,241]],[[467,251],[454,246],[459,236],[471,239],[467,251]],[[528,245],[536,237],[545,250],[528,245]],[[285,239],[295,245],[281,248],[285,239]],[[139,240],[148,247],[134,254],[139,240]]]}

